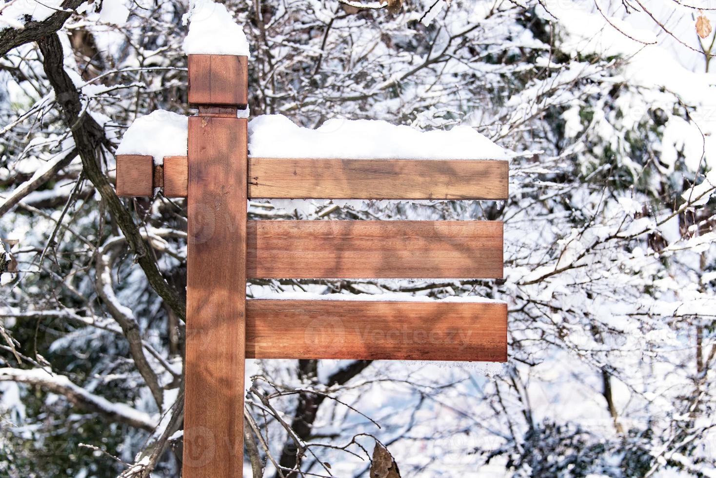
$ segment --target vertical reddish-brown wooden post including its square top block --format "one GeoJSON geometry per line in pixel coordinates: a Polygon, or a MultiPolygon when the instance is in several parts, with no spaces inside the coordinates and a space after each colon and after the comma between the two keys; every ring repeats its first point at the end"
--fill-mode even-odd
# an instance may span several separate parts
{"type": "Polygon", "coordinates": [[[243,470],[247,122],[236,117],[245,105],[215,89],[246,98],[246,59],[226,60],[189,61],[189,96],[209,103],[189,118],[185,478],[243,470]]]}

